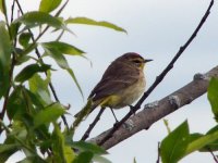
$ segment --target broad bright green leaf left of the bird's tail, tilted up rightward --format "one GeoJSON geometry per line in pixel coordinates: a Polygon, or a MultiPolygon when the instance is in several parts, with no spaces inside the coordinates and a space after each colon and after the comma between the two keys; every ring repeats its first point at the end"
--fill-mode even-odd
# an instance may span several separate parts
{"type": "Polygon", "coordinates": [[[43,124],[48,124],[53,121],[56,121],[58,117],[63,115],[65,113],[64,108],[60,103],[53,103],[45,110],[39,111],[35,116],[34,116],[34,124],[35,127],[38,127],[43,124]]]}

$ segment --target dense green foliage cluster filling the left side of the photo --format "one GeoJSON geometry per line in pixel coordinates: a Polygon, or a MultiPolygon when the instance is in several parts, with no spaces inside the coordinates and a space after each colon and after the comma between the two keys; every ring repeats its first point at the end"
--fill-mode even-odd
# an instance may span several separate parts
{"type": "Polygon", "coordinates": [[[4,16],[0,22],[0,100],[3,103],[0,136],[5,135],[0,143],[0,162],[5,162],[17,151],[25,154],[21,163],[109,162],[101,156],[107,154],[101,148],[73,140],[80,122],[71,128],[68,122],[61,125],[61,117],[68,114],[66,106],[58,99],[52,86],[53,65],[45,63],[44,59],[52,59],[61,71],[69,73],[83,96],[65,57],[86,57],[80,48],[61,40],[64,33],[74,36],[69,25],[125,30],[114,24],[87,17],[64,20],[60,14],[68,2],[40,0],[37,11],[25,13],[17,0],[13,0],[12,8],[8,1],[0,0],[0,14],[4,16]],[[11,15],[8,15],[8,9],[12,9],[11,15]],[[21,13],[17,17],[14,14],[16,10],[21,13]],[[51,33],[48,33],[49,29],[51,33]],[[53,40],[41,42],[45,34],[55,36],[53,40]],[[14,70],[20,72],[14,73],[14,70]],[[10,122],[4,121],[7,118],[10,122]]]}

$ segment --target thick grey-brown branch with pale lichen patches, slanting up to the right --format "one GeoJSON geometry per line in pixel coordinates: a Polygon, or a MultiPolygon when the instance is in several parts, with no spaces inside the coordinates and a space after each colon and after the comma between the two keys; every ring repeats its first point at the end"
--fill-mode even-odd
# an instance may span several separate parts
{"type": "MultiPolygon", "coordinates": [[[[190,104],[193,100],[207,92],[207,87],[211,77],[218,77],[218,66],[214,67],[204,75],[196,74],[193,82],[189,83],[181,89],[159,101],[146,104],[143,111],[129,118],[128,122],[129,124],[131,123],[131,127],[120,127],[118,130],[116,130],[113,137],[108,139],[101,147],[109,149],[131,137],[132,135],[149,128],[155,122],[177,111],[183,105],[190,104]]],[[[102,139],[111,131],[111,129],[108,129],[97,137],[92,138],[89,141],[93,143],[101,142],[102,139]]]]}

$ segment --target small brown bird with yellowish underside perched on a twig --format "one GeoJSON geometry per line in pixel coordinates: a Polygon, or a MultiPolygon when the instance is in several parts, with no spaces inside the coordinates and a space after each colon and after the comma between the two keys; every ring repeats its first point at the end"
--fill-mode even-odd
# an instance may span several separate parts
{"type": "MultiPolygon", "coordinates": [[[[149,61],[153,60],[145,60],[134,52],[116,59],[88,97],[93,102],[90,112],[98,105],[121,109],[137,100],[145,90],[143,70],[145,63],[149,61]]],[[[80,113],[75,114],[75,117],[80,113]]]]}

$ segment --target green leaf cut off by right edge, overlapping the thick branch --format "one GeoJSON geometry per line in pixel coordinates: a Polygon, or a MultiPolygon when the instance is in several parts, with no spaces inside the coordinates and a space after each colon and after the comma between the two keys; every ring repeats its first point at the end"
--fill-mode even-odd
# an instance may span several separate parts
{"type": "Polygon", "coordinates": [[[211,105],[215,120],[218,122],[218,78],[211,78],[207,90],[207,97],[211,105]]]}

